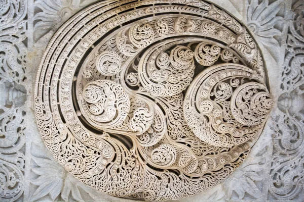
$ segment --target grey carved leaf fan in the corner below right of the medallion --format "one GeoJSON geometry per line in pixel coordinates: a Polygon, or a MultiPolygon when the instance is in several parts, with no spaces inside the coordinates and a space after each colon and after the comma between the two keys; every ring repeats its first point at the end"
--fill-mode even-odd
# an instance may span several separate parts
{"type": "MultiPolygon", "coordinates": [[[[263,140],[262,140],[263,141],[263,140]]],[[[223,183],[204,192],[203,201],[239,201],[239,200],[263,200],[263,181],[268,177],[267,159],[270,148],[266,142],[259,141],[258,148],[254,148],[250,154],[250,160],[246,160],[223,183]]]]}

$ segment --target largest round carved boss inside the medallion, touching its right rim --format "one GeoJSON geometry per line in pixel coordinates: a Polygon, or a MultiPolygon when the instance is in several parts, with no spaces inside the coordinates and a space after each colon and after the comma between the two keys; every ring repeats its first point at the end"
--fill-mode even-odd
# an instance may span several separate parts
{"type": "Polygon", "coordinates": [[[233,146],[260,133],[273,102],[252,70],[225,63],[207,70],[195,78],[184,100],[185,119],[195,135],[214,146],[233,146]]]}

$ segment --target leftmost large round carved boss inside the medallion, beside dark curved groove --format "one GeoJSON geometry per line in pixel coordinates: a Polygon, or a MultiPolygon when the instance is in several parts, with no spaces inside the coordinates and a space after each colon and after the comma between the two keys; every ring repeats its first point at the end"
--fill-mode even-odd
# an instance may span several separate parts
{"type": "Polygon", "coordinates": [[[88,83],[80,97],[82,114],[101,128],[122,124],[130,110],[128,94],[120,84],[110,80],[88,83]]]}

